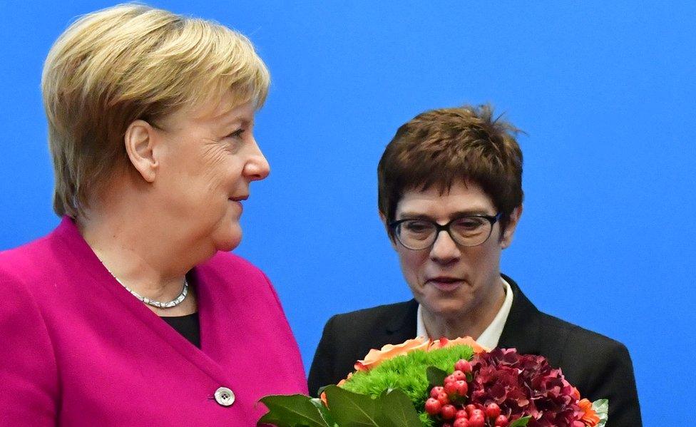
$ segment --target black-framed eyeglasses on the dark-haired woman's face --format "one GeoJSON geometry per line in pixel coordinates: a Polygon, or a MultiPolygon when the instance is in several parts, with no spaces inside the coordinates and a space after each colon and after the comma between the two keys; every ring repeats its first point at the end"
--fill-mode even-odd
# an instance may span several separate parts
{"type": "Polygon", "coordinates": [[[501,219],[496,215],[464,215],[439,225],[431,220],[410,219],[391,222],[389,227],[396,240],[407,249],[427,249],[435,244],[441,231],[446,231],[454,242],[462,246],[478,246],[491,237],[493,225],[501,219]]]}

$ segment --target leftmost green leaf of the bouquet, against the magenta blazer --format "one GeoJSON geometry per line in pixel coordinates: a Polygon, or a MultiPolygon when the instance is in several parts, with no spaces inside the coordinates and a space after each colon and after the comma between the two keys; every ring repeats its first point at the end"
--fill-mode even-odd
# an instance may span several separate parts
{"type": "Polygon", "coordinates": [[[309,396],[273,395],[262,397],[260,401],[268,408],[268,413],[261,417],[258,424],[273,424],[277,427],[330,427],[309,396]]]}

